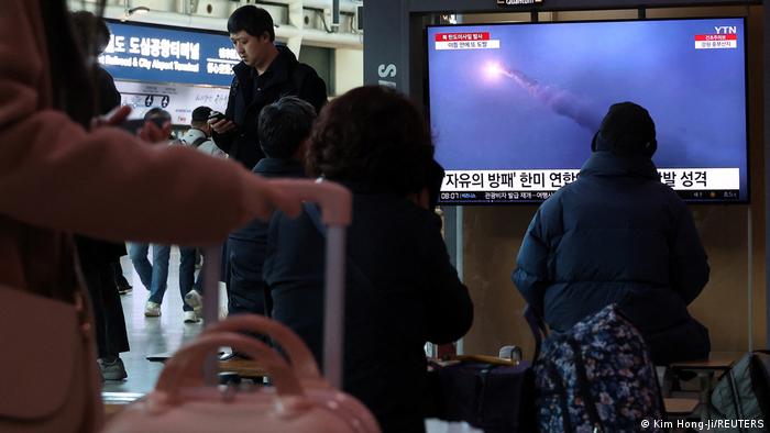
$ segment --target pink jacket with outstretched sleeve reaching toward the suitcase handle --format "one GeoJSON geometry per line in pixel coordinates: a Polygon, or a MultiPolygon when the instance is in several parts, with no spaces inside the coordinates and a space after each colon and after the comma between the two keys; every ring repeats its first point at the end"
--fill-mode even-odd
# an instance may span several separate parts
{"type": "Polygon", "coordinates": [[[284,200],[237,163],[148,146],[117,127],[88,132],[53,110],[38,1],[2,9],[0,286],[66,299],[69,233],[216,244],[284,200]]]}

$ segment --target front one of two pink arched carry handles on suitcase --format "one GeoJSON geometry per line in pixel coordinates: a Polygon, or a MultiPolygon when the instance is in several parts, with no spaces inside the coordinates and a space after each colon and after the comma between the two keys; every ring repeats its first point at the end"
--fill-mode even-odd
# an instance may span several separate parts
{"type": "Polygon", "coordinates": [[[261,341],[232,332],[216,332],[200,335],[194,342],[183,346],[172,357],[161,371],[151,401],[164,404],[178,404],[182,402],[179,393],[184,386],[202,385],[202,366],[208,353],[221,346],[231,346],[254,359],[260,360],[260,366],[267,371],[278,396],[304,396],[305,391],[297,376],[273,348],[261,341]],[[190,380],[193,379],[193,380],[190,380]]]}

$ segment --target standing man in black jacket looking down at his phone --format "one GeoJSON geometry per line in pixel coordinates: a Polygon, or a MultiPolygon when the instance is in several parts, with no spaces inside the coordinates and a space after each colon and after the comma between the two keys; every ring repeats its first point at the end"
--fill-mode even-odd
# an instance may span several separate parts
{"type": "Polygon", "coordinates": [[[326,84],[286,46],[275,46],[273,18],[264,9],[237,9],[228,32],[242,62],[233,67],[226,119],[212,123],[212,136],[219,148],[251,169],[264,156],[257,131],[262,108],[292,95],[319,112],[327,102],[326,84]]]}

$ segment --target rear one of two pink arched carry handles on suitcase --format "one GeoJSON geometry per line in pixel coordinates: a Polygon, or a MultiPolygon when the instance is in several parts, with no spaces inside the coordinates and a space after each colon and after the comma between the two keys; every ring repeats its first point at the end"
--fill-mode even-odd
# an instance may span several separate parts
{"type": "MultiPolygon", "coordinates": [[[[253,332],[273,338],[288,355],[292,369],[300,380],[318,380],[323,378],[318,370],[318,364],[310,349],[286,325],[257,314],[238,314],[224,321],[209,325],[202,335],[220,332],[253,332]]],[[[223,344],[226,346],[226,344],[223,344]]]]}

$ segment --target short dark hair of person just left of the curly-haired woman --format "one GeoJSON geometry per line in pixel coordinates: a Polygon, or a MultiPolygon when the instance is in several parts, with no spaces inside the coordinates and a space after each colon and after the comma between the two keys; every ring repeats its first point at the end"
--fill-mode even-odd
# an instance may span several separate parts
{"type": "Polygon", "coordinates": [[[310,136],[316,109],[297,97],[284,97],[260,113],[260,146],[271,158],[292,158],[310,136]]]}

